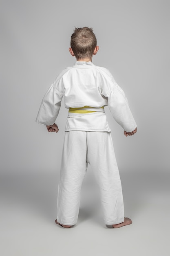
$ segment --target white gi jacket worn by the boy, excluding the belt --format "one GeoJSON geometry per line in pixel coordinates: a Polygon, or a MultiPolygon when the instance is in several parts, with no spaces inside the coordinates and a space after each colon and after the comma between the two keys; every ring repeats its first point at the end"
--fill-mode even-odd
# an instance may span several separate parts
{"type": "MultiPolygon", "coordinates": [[[[137,127],[124,91],[106,68],[91,61],[76,61],[75,65],[57,76],[42,99],[36,122],[54,124],[63,96],[66,108],[109,106],[114,119],[126,132],[137,127]]],[[[69,113],[66,131],[71,130],[110,132],[105,113],[98,111],[77,115],[69,113]]]]}

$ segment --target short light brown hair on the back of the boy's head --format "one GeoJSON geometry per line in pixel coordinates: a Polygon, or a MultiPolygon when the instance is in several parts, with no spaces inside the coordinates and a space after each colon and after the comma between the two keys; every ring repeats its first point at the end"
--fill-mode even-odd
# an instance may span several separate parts
{"type": "Polygon", "coordinates": [[[96,45],[97,40],[92,28],[75,28],[71,35],[71,48],[76,59],[91,58],[96,45]]]}

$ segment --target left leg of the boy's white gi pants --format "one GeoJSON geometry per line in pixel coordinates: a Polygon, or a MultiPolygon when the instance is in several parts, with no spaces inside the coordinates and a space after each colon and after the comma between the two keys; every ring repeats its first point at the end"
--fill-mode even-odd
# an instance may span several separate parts
{"type": "Polygon", "coordinates": [[[57,198],[57,221],[63,225],[77,222],[81,186],[87,170],[86,153],[86,132],[66,132],[57,198]]]}

